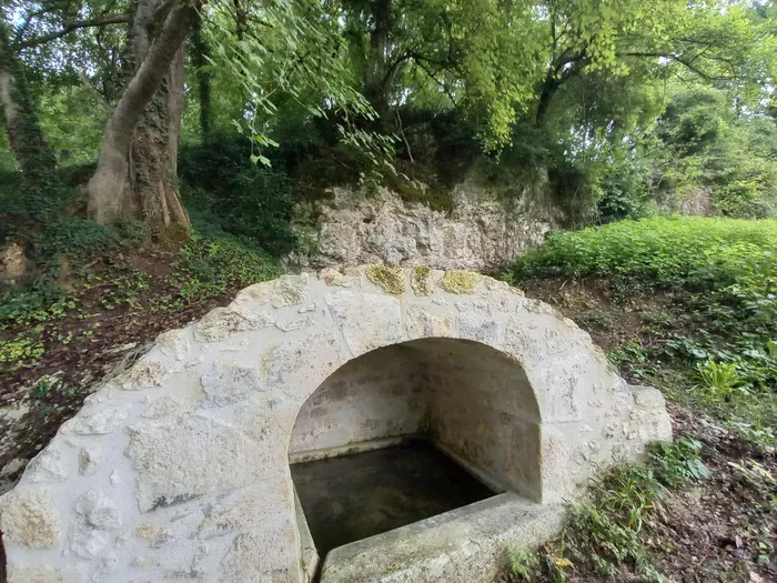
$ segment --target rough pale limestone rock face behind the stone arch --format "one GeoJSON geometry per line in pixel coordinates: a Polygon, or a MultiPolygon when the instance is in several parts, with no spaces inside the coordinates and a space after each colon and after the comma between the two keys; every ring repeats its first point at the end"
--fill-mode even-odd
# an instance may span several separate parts
{"type": "Polygon", "coordinates": [[[467,182],[454,190],[451,212],[405,202],[389,190],[365,194],[335,188],[331,194],[306,209],[315,219],[300,230],[305,251],[290,262],[493,271],[539,245],[558,217],[528,195],[500,200],[467,182]]]}

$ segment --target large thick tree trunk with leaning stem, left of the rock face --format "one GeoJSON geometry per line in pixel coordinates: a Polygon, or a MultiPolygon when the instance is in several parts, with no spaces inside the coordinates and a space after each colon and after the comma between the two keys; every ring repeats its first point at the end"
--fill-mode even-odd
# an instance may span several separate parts
{"type": "Polygon", "coordinates": [[[161,0],[138,0],[128,62],[134,74],[103,132],[89,213],[101,224],[141,220],[159,241],[180,242],[189,218],[178,194],[176,159],[183,93],[183,41],[201,2],[173,8],[160,27],[161,0]]]}

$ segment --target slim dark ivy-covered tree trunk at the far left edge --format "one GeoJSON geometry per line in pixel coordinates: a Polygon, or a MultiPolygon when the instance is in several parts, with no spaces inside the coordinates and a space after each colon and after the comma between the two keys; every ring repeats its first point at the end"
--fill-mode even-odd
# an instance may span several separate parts
{"type": "Polygon", "coordinates": [[[4,22],[0,22],[0,111],[11,150],[22,171],[26,200],[30,210],[39,213],[43,207],[34,203],[43,201],[54,184],[56,159],[43,140],[24,74],[16,51],[10,48],[4,22]]]}

